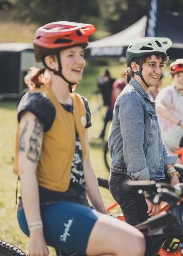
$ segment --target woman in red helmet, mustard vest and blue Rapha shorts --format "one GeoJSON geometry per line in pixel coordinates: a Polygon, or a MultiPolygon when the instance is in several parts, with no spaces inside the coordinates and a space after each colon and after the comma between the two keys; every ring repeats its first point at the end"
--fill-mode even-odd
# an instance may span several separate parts
{"type": "Polygon", "coordinates": [[[35,58],[45,68],[27,77],[14,159],[21,182],[18,222],[30,236],[30,256],[47,256],[47,245],[92,256],[144,254],[143,235],[106,215],[90,163],[88,101],[72,91],[94,31],[90,24],[53,22],[35,34],[35,58]]]}

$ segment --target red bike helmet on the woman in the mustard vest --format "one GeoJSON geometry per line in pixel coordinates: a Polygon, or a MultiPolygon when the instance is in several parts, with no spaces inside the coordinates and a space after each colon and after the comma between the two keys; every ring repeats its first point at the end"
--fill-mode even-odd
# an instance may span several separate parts
{"type": "Polygon", "coordinates": [[[88,37],[95,32],[91,24],[58,21],[46,24],[36,30],[33,45],[37,62],[46,54],[58,53],[60,50],[75,45],[88,45],[88,37]]]}

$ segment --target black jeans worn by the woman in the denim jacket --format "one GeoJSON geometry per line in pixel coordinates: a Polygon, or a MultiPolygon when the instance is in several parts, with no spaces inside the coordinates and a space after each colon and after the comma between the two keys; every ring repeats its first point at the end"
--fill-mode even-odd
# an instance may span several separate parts
{"type": "MultiPolygon", "coordinates": [[[[180,173],[180,182],[183,182],[183,165],[177,164],[175,168],[180,173]]],[[[115,201],[120,205],[126,222],[135,226],[149,218],[148,206],[144,194],[129,194],[122,189],[124,180],[130,180],[130,177],[124,173],[111,171],[109,189],[115,201]]],[[[165,179],[158,181],[170,183],[170,178],[165,174],[165,179]]]]}

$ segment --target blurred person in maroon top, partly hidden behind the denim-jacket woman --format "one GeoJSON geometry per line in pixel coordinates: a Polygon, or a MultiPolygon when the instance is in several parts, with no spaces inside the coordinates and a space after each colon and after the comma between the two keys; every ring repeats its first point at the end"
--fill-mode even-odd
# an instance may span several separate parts
{"type": "Polygon", "coordinates": [[[110,107],[107,109],[107,112],[106,112],[106,115],[104,118],[104,126],[102,128],[102,131],[100,132],[99,135],[98,134],[94,135],[93,138],[104,139],[107,124],[108,124],[108,122],[112,121],[112,119],[113,119],[113,109],[114,109],[115,101],[116,101],[118,95],[124,89],[125,85],[126,85],[126,71],[125,72],[123,71],[122,78],[117,79],[112,86],[110,107]]]}

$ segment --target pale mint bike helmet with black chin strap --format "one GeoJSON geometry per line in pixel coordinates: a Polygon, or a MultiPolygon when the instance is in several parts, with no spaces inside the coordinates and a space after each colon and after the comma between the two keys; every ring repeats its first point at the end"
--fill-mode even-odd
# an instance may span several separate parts
{"type": "Polygon", "coordinates": [[[129,44],[126,51],[126,65],[130,67],[130,62],[134,58],[140,58],[140,70],[135,72],[135,74],[140,76],[147,87],[150,87],[142,76],[142,57],[150,54],[162,54],[166,57],[166,51],[171,46],[172,41],[169,38],[141,38],[129,44]]]}

